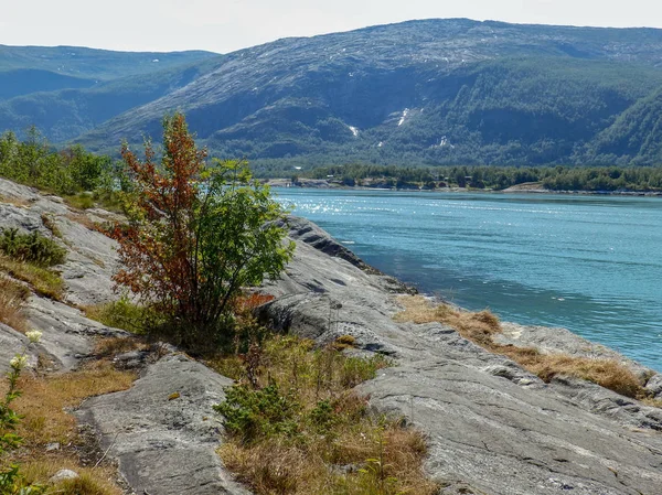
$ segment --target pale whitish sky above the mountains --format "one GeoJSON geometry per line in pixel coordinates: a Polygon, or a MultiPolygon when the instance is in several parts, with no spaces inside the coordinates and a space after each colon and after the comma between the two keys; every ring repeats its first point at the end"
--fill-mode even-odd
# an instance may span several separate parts
{"type": "Polygon", "coordinates": [[[234,50],[410,19],[662,28],[659,0],[0,0],[0,44],[234,50]]]}

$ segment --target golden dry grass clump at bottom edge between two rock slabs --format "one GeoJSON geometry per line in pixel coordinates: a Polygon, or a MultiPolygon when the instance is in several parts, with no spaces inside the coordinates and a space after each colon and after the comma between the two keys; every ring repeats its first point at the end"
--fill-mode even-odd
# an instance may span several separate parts
{"type": "Polygon", "coordinates": [[[439,485],[425,476],[426,452],[419,432],[365,421],[333,442],[276,440],[250,448],[226,442],[218,450],[239,481],[265,495],[433,495],[439,485]]]}

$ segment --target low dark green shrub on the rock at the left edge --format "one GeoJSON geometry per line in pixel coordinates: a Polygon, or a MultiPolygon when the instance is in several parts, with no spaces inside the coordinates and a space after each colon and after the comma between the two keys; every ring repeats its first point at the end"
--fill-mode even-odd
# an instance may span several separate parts
{"type": "Polygon", "coordinates": [[[38,267],[62,265],[66,249],[39,232],[20,234],[18,228],[0,228],[0,252],[38,267]]]}

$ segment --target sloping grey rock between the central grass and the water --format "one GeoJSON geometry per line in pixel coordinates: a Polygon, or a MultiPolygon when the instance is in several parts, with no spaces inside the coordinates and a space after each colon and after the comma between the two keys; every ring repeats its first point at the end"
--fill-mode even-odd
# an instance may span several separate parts
{"type": "MultiPolygon", "coordinates": [[[[351,334],[363,349],[392,356],[395,366],[360,390],[427,434],[427,467],[445,493],[660,493],[662,410],[581,380],[544,384],[438,323],[395,323],[397,283],[333,256],[341,246],[305,224],[290,223],[295,260],[266,288],[277,298],[263,320],[320,343],[351,334]]],[[[506,329],[503,338],[520,345],[616,355],[566,331],[506,329]]]]}

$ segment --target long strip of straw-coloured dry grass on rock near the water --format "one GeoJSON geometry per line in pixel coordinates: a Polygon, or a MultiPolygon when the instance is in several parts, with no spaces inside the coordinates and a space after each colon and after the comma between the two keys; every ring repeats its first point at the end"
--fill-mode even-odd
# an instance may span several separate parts
{"type": "Polygon", "coordinates": [[[492,335],[501,332],[501,324],[499,319],[489,311],[471,313],[447,304],[434,305],[420,295],[402,297],[399,302],[405,310],[394,316],[395,321],[445,323],[457,330],[465,338],[485,349],[510,357],[544,381],[563,375],[592,381],[627,397],[645,397],[645,390],[637,376],[616,359],[542,354],[533,347],[501,345],[492,338],[492,335]]]}

